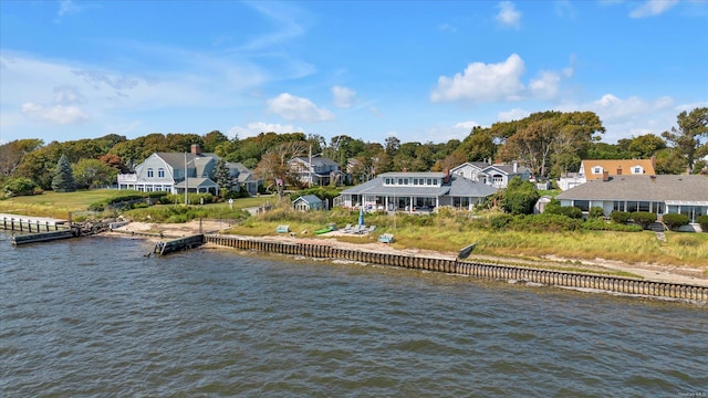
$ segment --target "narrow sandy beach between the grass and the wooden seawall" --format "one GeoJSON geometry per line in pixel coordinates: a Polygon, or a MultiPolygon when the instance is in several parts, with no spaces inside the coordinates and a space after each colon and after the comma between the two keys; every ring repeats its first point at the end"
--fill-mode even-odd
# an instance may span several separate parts
{"type": "MultiPolygon", "coordinates": [[[[201,231],[202,233],[219,233],[220,231],[227,229],[229,226],[212,220],[202,220],[201,221],[201,231]]],[[[164,239],[177,238],[177,237],[186,237],[190,234],[199,233],[200,221],[194,220],[185,223],[149,223],[149,222],[131,222],[126,226],[116,228],[113,232],[114,235],[125,237],[126,232],[162,232],[164,239]]],[[[112,233],[112,232],[108,232],[112,233]]],[[[288,242],[288,241],[298,241],[298,242],[308,242],[308,243],[316,243],[316,244],[325,244],[332,245],[336,248],[347,248],[347,249],[360,249],[360,250],[369,250],[369,251],[378,251],[378,252],[397,252],[397,253],[409,253],[409,254],[418,254],[426,256],[439,256],[445,259],[455,259],[457,252],[435,252],[419,249],[395,249],[394,247],[385,243],[350,243],[342,242],[336,240],[339,235],[343,235],[344,233],[341,231],[333,231],[326,234],[321,235],[326,239],[314,239],[308,235],[302,234],[279,234],[279,235],[270,235],[270,237],[259,237],[262,240],[272,240],[278,242],[288,242]]],[[[145,237],[145,239],[152,240],[160,240],[159,237],[145,237]]],[[[524,261],[514,258],[498,258],[490,255],[473,255],[473,259],[477,261],[489,261],[491,263],[504,263],[508,261],[513,264],[524,264],[528,263],[530,266],[548,264],[550,266],[579,266],[585,270],[596,270],[596,271],[624,271],[629,272],[636,275],[643,276],[647,281],[657,281],[657,282],[670,282],[670,283],[685,283],[700,286],[708,286],[708,275],[706,275],[702,270],[691,269],[691,268],[681,268],[681,266],[669,266],[669,265],[660,265],[660,264],[627,264],[618,261],[611,261],[604,259],[595,259],[595,260],[577,260],[577,259],[562,259],[556,256],[546,256],[544,259],[539,259],[538,261],[524,261]],[[574,264],[568,263],[568,261],[580,261],[574,262],[574,264]]]]}

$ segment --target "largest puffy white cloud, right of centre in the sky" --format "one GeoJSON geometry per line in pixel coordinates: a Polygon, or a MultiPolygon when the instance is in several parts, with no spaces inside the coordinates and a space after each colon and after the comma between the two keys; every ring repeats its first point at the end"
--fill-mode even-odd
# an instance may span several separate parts
{"type": "Polygon", "coordinates": [[[430,94],[430,101],[517,101],[524,88],[520,81],[524,70],[523,60],[517,54],[496,64],[473,62],[461,74],[440,76],[438,86],[430,94]]]}

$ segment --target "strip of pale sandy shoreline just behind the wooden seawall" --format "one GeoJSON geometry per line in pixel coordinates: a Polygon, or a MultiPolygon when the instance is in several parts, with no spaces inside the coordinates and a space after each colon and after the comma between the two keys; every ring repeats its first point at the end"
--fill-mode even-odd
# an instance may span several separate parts
{"type": "MultiPolygon", "coordinates": [[[[131,222],[126,226],[114,229],[112,232],[106,232],[110,235],[116,237],[135,237],[147,239],[152,241],[162,241],[168,239],[176,239],[186,237],[189,234],[197,234],[199,232],[199,221],[190,221],[180,224],[166,224],[166,223],[146,223],[146,222],[131,222]],[[135,234],[129,234],[134,232],[135,234]],[[158,233],[163,233],[160,239],[158,233]]],[[[219,234],[219,231],[223,229],[223,223],[217,221],[205,220],[201,222],[201,230],[205,234],[219,234]]],[[[227,227],[228,228],[228,227],[227,227]]],[[[420,250],[415,248],[395,249],[386,243],[348,243],[336,240],[336,233],[330,239],[313,239],[309,237],[292,237],[292,235],[264,235],[264,237],[249,237],[237,234],[222,234],[222,237],[232,237],[241,239],[259,239],[268,242],[278,243],[309,243],[324,247],[332,247],[335,249],[356,249],[363,251],[373,251],[378,253],[389,254],[404,254],[404,255],[425,255],[435,256],[439,259],[454,260],[457,256],[457,252],[437,252],[429,250],[420,250]]],[[[329,234],[324,235],[329,238],[329,234]]],[[[209,243],[208,243],[209,244],[209,243]]],[[[216,245],[215,245],[216,247],[216,245]]],[[[471,255],[468,261],[482,261],[486,263],[496,263],[500,265],[532,268],[539,270],[549,271],[563,271],[563,272],[582,272],[582,273],[595,273],[597,275],[608,275],[612,273],[623,272],[631,273],[639,276],[647,282],[662,282],[662,283],[676,283],[687,284],[696,286],[708,286],[708,275],[702,270],[679,268],[679,266],[666,266],[657,264],[627,264],[618,261],[608,261],[603,259],[579,260],[579,259],[561,259],[555,256],[539,258],[538,260],[517,259],[517,258],[500,258],[492,255],[471,255]],[[573,263],[570,263],[570,262],[573,263]],[[575,269],[575,271],[573,271],[575,269]]]]}

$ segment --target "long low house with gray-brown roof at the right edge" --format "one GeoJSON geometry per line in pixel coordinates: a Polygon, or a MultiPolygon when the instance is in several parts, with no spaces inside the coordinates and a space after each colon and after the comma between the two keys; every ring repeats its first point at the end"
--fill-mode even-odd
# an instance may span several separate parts
{"type": "Polygon", "coordinates": [[[583,211],[601,207],[612,211],[650,211],[688,216],[691,223],[708,213],[708,177],[706,176],[614,176],[605,175],[571,188],[555,197],[561,206],[583,211]]]}

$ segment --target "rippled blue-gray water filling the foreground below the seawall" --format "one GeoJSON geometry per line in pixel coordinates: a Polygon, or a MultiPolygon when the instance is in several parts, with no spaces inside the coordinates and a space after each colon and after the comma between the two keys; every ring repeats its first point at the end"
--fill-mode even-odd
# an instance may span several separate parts
{"type": "Polygon", "coordinates": [[[0,396],[708,397],[708,308],[0,233],[0,396]]]}

